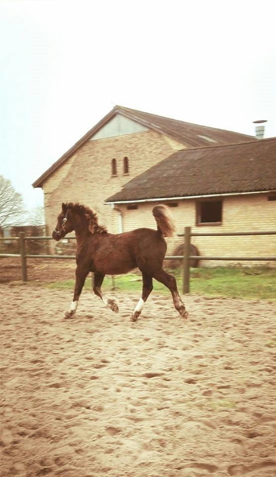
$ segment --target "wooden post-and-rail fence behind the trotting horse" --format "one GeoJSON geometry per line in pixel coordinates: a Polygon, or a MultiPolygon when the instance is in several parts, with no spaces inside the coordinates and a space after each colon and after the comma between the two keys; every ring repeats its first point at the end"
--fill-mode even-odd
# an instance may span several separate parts
{"type": "MultiPolygon", "coordinates": [[[[276,256],[272,257],[232,257],[232,256],[201,256],[190,255],[191,237],[233,237],[233,236],[257,236],[257,235],[276,235],[276,231],[269,232],[191,232],[191,227],[185,227],[184,234],[177,234],[178,237],[184,237],[184,255],[166,255],[165,260],[183,260],[183,294],[190,293],[190,259],[196,260],[232,260],[232,261],[276,261],[276,256]]],[[[67,237],[75,239],[75,237],[67,237]]],[[[20,232],[19,237],[1,237],[0,240],[17,240],[20,245],[20,253],[0,253],[0,257],[18,257],[21,258],[22,280],[28,280],[27,259],[28,258],[75,258],[74,255],[42,255],[26,253],[27,240],[53,240],[52,237],[26,237],[25,232],[20,232]]]]}

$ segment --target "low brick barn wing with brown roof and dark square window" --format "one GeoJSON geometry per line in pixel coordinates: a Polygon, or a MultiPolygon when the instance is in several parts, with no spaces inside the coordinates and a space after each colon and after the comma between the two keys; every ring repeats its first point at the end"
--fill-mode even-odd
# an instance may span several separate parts
{"type": "MultiPolygon", "coordinates": [[[[106,200],[124,231],[154,227],[152,207],[171,207],[177,232],[276,230],[276,138],[178,151],[106,200]]],[[[181,243],[169,239],[170,253],[181,243]]],[[[194,237],[206,256],[276,256],[276,236],[194,237]]],[[[229,263],[205,261],[201,265],[229,263]]],[[[257,262],[243,262],[243,264],[257,262]]],[[[259,262],[263,263],[263,262],[259,262]]],[[[275,265],[271,261],[270,265],[275,265]]]]}

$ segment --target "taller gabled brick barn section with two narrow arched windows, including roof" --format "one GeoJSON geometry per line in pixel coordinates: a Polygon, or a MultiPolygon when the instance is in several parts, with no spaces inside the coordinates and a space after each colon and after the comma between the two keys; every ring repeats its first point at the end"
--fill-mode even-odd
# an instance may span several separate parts
{"type": "Polygon", "coordinates": [[[118,213],[105,200],[127,182],[177,151],[249,140],[254,138],[115,106],[33,183],[44,192],[47,233],[62,202],[88,205],[116,233],[118,213]]]}

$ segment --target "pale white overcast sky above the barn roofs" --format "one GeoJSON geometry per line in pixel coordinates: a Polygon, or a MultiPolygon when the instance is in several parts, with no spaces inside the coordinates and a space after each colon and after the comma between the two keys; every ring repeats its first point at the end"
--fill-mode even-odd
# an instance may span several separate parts
{"type": "Polygon", "coordinates": [[[276,136],[275,4],[1,0],[0,174],[42,205],[32,182],[115,104],[276,136]]]}

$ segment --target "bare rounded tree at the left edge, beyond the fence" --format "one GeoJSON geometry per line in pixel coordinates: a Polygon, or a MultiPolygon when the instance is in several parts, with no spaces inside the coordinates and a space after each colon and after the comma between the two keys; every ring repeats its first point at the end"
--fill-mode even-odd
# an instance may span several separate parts
{"type": "Polygon", "coordinates": [[[25,209],[21,194],[16,192],[10,180],[0,175],[0,227],[23,225],[25,209]]]}

